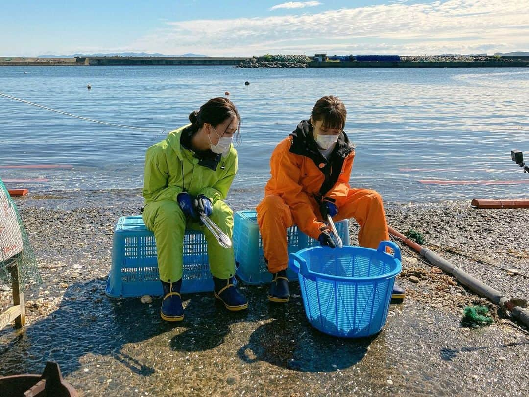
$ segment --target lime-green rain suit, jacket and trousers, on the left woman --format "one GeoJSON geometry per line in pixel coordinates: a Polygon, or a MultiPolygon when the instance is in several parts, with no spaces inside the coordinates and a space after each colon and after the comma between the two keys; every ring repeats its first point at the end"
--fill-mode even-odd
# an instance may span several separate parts
{"type": "Polygon", "coordinates": [[[188,126],[171,131],[165,140],[151,146],[145,155],[142,218],[156,238],[160,279],[166,283],[176,282],[182,277],[186,227],[204,232],[213,276],[226,279],[235,274],[233,248],[222,247],[207,228],[197,221],[186,219],[176,197],[181,192],[208,197],[213,207],[210,218],[231,239],[233,212],[223,200],[237,173],[237,152],[232,145],[215,169],[198,164],[195,152],[180,145],[182,131],[188,126]]]}

